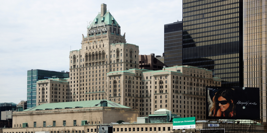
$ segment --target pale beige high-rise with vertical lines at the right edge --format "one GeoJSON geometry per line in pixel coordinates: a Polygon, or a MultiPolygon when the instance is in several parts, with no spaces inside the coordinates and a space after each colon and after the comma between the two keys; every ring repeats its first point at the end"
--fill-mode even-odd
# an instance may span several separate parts
{"type": "Polygon", "coordinates": [[[243,3],[244,87],[260,88],[260,122],[266,125],[266,1],[243,3]]]}

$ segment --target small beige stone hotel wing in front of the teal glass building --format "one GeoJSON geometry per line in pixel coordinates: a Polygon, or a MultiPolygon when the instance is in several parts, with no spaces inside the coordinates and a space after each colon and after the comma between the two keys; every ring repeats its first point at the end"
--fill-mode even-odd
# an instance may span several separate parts
{"type": "Polygon", "coordinates": [[[36,105],[72,101],[72,95],[69,90],[69,78],[50,78],[46,80],[39,80],[36,84],[36,105]]]}

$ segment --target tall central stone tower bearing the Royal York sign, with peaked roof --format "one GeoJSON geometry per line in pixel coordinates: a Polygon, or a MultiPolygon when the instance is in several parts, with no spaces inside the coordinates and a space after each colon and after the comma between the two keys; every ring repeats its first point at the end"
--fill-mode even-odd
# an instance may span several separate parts
{"type": "Polygon", "coordinates": [[[72,101],[109,99],[106,74],[139,65],[139,46],[126,43],[106,4],[88,25],[87,36],[82,35],[82,48],[69,54],[72,101]]]}

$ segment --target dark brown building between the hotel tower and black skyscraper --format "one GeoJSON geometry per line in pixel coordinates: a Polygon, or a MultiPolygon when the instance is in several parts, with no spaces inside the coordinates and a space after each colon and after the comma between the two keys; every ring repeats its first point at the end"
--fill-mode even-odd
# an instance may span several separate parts
{"type": "Polygon", "coordinates": [[[162,70],[164,66],[166,67],[164,63],[155,58],[154,53],[150,55],[139,55],[139,69],[162,70]]]}

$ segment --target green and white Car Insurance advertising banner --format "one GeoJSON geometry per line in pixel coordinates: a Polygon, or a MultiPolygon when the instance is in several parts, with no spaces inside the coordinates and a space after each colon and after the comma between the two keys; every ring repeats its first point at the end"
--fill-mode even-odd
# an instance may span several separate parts
{"type": "Polygon", "coordinates": [[[196,117],[173,119],[172,129],[191,129],[191,128],[196,128],[196,117]]]}

